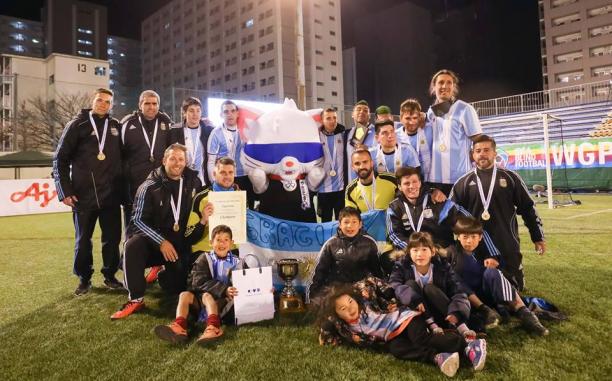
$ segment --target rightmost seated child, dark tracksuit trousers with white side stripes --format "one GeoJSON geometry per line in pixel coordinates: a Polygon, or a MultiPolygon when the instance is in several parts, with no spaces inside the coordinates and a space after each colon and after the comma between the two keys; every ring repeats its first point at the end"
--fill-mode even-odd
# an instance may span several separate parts
{"type": "Polygon", "coordinates": [[[459,217],[453,228],[457,242],[447,249],[447,259],[473,308],[480,311],[487,328],[496,326],[500,316],[492,307],[509,306],[516,311],[523,327],[540,336],[548,335],[538,317],[523,303],[516,288],[499,270],[499,262],[494,258],[480,258],[474,255],[482,239],[482,224],[474,217],[459,217]],[[488,304],[488,305],[487,305],[488,304]]]}

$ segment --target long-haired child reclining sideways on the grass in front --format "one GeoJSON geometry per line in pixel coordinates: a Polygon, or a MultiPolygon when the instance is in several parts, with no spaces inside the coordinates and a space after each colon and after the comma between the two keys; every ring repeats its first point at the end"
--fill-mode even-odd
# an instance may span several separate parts
{"type": "MultiPolygon", "coordinates": [[[[381,293],[369,293],[369,296],[381,293]]],[[[474,370],[482,370],[487,356],[485,340],[466,344],[455,332],[434,335],[423,315],[408,308],[381,311],[350,284],[329,288],[317,320],[321,345],[342,343],[360,347],[382,347],[402,360],[430,362],[452,377],[459,368],[459,353],[466,355],[474,370]]]]}

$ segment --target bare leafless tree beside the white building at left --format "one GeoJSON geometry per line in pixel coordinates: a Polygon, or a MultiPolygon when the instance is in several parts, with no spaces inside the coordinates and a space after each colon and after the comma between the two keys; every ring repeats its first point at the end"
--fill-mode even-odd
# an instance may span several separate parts
{"type": "Polygon", "coordinates": [[[53,151],[64,126],[90,105],[91,95],[84,93],[59,94],[50,101],[42,96],[23,101],[17,112],[21,150],[53,151]]]}

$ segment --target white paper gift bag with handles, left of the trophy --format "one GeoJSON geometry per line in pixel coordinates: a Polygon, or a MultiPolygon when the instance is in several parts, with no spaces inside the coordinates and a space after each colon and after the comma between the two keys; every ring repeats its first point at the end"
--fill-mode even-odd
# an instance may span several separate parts
{"type": "Polygon", "coordinates": [[[247,257],[257,260],[257,267],[232,271],[232,286],[238,289],[234,297],[236,325],[254,323],[274,318],[274,293],[272,292],[272,267],[261,267],[259,258],[248,254],[242,259],[242,267],[247,257]]]}

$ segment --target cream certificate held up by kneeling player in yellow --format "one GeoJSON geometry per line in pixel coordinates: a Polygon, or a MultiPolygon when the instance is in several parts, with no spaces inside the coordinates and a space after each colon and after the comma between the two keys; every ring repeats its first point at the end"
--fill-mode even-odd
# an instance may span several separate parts
{"type": "Polygon", "coordinates": [[[246,242],[246,192],[209,192],[208,202],[215,209],[208,218],[209,232],[218,225],[227,225],[232,229],[234,243],[246,242]]]}

